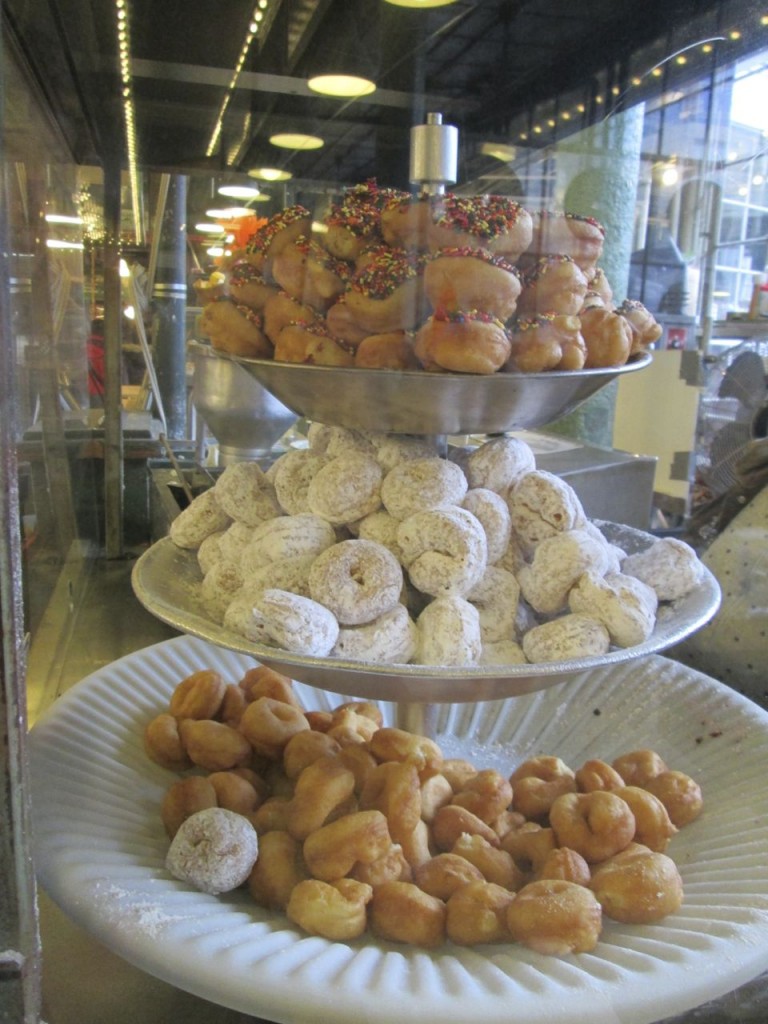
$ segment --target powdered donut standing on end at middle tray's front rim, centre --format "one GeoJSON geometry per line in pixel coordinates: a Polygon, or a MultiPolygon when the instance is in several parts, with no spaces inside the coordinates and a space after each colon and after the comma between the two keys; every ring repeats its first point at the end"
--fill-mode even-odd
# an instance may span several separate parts
{"type": "Polygon", "coordinates": [[[419,665],[476,665],[482,652],[480,616],[462,597],[438,597],[416,622],[419,665]]]}

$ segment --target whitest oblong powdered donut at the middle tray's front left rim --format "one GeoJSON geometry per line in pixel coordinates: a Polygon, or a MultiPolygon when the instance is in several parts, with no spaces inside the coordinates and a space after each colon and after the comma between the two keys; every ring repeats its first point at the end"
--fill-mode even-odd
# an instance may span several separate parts
{"type": "Polygon", "coordinates": [[[257,596],[253,617],[273,643],[294,654],[326,657],[339,636],[332,611],[286,590],[265,590],[257,596]]]}

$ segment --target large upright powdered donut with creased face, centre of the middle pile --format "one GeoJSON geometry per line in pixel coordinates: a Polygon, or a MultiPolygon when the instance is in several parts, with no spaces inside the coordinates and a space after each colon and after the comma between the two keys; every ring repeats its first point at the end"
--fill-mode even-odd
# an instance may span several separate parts
{"type": "Polygon", "coordinates": [[[458,506],[409,516],[397,529],[397,543],[411,583],[433,597],[466,595],[487,564],[485,530],[458,506]]]}

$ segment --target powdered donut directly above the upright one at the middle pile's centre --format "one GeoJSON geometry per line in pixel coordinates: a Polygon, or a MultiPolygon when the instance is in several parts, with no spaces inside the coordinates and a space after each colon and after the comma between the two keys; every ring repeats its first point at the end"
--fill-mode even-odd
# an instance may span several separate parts
{"type": "Polygon", "coordinates": [[[415,512],[458,506],[467,494],[467,478],[447,459],[408,459],[395,465],[381,483],[381,501],[395,519],[415,512]]]}

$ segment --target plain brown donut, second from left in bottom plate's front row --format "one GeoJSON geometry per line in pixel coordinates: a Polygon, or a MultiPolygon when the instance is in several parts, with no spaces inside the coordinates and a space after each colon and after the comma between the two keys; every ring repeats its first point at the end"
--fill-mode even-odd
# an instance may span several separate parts
{"type": "Polygon", "coordinates": [[[371,931],[389,942],[431,948],[445,941],[445,904],[412,882],[386,882],[374,890],[371,931]]]}

